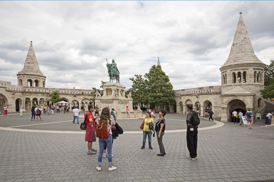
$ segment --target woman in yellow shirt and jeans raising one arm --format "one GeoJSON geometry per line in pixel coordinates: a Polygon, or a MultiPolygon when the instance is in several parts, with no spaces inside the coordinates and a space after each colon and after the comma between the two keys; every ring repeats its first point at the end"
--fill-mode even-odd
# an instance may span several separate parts
{"type": "Polygon", "coordinates": [[[145,148],[146,136],[147,135],[148,135],[148,146],[149,146],[150,149],[153,149],[152,146],[151,146],[151,132],[150,132],[150,129],[149,129],[149,123],[153,123],[153,125],[154,125],[154,121],[151,117],[151,113],[149,111],[147,111],[145,117],[140,117],[137,111],[136,111],[136,113],[137,113],[139,119],[144,120],[143,145],[142,145],[141,149],[145,148]]]}

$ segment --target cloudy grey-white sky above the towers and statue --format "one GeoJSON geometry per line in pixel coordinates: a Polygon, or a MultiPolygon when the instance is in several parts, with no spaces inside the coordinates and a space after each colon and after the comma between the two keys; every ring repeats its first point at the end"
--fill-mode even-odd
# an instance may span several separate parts
{"type": "Polygon", "coordinates": [[[46,87],[120,83],[157,63],[174,90],[221,85],[242,11],[255,54],[274,59],[274,1],[0,1],[0,80],[17,85],[30,41],[46,87]]]}

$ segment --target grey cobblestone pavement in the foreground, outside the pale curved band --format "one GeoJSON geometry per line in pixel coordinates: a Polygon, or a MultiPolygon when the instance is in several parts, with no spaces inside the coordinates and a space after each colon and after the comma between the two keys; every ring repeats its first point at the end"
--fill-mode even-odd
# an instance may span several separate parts
{"type": "MultiPolygon", "coordinates": [[[[113,165],[117,167],[114,171],[107,171],[107,158],[103,158],[102,171],[95,169],[98,154],[86,154],[84,134],[0,130],[0,182],[274,179],[274,128],[261,126],[253,125],[249,130],[224,123],[219,128],[199,131],[196,161],[186,159],[186,132],[164,135],[163,157],[156,156],[156,138],[152,138],[153,150],[147,143],[146,148],[140,149],[142,134],[125,133],[113,143],[113,165]]],[[[98,150],[98,142],[94,142],[93,148],[98,150]]]]}

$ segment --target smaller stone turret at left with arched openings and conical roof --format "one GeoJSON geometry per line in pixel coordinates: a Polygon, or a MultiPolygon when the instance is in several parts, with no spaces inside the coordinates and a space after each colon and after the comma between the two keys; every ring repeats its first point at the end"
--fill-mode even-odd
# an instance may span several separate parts
{"type": "Polygon", "coordinates": [[[40,71],[35,52],[31,45],[23,69],[17,74],[19,86],[45,87],[46,76],[40,71]]]}

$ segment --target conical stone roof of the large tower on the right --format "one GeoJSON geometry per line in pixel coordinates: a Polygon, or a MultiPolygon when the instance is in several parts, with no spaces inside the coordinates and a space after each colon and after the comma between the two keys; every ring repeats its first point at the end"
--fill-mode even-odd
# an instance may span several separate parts
{"type": "Polygon", "coordinates": [[[249,36],[247,34],[245,23],[243,22],[242,12],[240,12],[240,18],[231,45],[229,56],[222,67],[241,63],[264,64],[257,58],[254,53],[249,36]]]}

